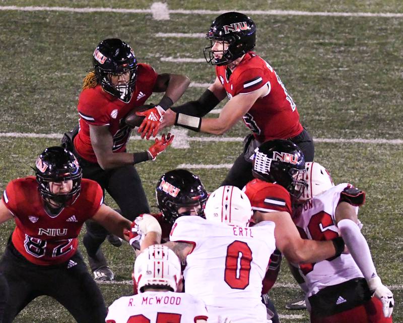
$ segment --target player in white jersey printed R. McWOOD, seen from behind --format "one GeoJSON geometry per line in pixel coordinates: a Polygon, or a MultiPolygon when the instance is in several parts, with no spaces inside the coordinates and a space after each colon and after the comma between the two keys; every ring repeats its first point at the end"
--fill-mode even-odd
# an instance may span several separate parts
{"type": "Polygon", "coordinates": [[[207,322],[203,301],[178,292],[180,262],[168,247],[152,245],[137,257],[134,284],[139,294],[115,300],[106,323],[207,322]]]}

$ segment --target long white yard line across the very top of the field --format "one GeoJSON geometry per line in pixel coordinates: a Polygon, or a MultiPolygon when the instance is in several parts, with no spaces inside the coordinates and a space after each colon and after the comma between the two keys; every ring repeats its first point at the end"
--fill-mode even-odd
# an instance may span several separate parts
{"type": "MultiPolygon", "coordinates": [[[[0,11],[14,10],[14,11],[69,11],[69,12],[116,12],[116,13],[133,13],[133,14],[153,14],[151,9],[122,9],[122,8],[71,8],[71,7],[19,7],[19,6],[0,6],[0,11]]],[[[185,14],[185,15],[219,15],[228,10],[167,10],[169,14],[185,14]]],[[[333,17],[386,17],[386,18],[402,18],[403,13],[367,13],[367,12],[309,12],[309,11],[296,11],[296,10],[248,10],[243,11],[246,15],[277,15],[277,16],[333,16],[333,17]]]]}

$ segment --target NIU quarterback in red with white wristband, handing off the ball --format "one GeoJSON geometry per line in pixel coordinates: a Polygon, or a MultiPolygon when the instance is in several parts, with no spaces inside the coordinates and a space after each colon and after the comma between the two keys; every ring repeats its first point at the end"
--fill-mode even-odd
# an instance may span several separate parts
{"type": "Polygon", "coordinates": [[[211,41],[204,50],[206,60],[216,66],[214,83],[198,100],[168,110],[161,127],[175,124],[221,135],[243,119],[252,134],[245,138],[244,152],[221,185],[242,188],[252,180],[250,156],[266,140],[290,139],[312,161],[312,138],[299,121],[296,104],[272,66],[251,51],[256,40],[252,19],[236,12],[222,14],[213,21],[206,38],[211,41]],[[229,101],[219,118],[200,118],[226,96],[229,101]]]}

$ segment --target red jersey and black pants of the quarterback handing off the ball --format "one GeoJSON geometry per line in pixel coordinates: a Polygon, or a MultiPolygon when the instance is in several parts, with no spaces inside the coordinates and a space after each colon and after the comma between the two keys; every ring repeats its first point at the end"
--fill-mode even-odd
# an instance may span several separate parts
{"type": "Polygon", "coordinates": [[[290,139],[313,161],[312,138],[299,121],[297,107],[276,71],[254,52],[248,52],[231,72],[227,66],[216,66],[216,74],[228,98],[248,94],[266,87],[266,95],[258,98],[243,117],[252,135],[245,138],[244,152],[236,159],[221,185],[242,187],[252,179],[249,157],[261,143],[271,139],[290,139]]]}

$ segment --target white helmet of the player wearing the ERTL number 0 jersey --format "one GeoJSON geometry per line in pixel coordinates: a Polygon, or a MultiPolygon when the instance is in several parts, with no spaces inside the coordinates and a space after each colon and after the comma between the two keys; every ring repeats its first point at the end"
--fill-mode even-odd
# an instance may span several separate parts
{"type": "Polygon", "coordinates": [[[248,197],[235,186],[221,186],[206,202],[205,216],[209,221],[246,226],[252,214],[248,197]]]}

